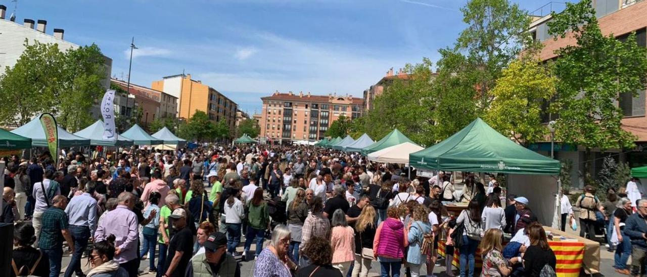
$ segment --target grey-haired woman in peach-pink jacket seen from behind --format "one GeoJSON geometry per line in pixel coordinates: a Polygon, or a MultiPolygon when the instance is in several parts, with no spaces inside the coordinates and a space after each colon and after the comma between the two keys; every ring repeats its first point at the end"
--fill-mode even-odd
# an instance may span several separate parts
{"type": "Polygon", "coordinates": [[[351,263],[355,261],[355,231],[349,227],[346,221],[346,215],[342,209],[337,209],[333,213],[331,223],[331,246],[333,248],[333,267],[339,269],[342,275],[351,268],[351,263]]]}

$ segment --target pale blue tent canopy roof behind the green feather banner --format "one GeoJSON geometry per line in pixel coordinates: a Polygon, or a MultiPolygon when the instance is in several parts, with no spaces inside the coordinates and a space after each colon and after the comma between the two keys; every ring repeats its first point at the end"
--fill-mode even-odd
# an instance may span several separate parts
{"type": "MultiPolygon", "coordinates": [[[[40,122],[40,115],[36,116],[32,121],[27,122],[27,124],[11,131],[11,133],[32,139],[32,147],[47,147],[47,139],[45,139],[45,130],[43,130],[43,125],[40,122]]],[[[72,135],[58,126],[59,148],[89,145],[89,139],[83,139],[82,137],[72,135]]]]}

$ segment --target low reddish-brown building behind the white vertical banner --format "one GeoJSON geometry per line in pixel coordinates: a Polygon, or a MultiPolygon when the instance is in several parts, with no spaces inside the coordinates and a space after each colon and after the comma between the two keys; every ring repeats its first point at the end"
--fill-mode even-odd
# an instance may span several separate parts
{"type": "MultiPolygon", "coordinates": [[[[142,108],[142,118],[140,125],[146,129],[148,124],[153,122],[155,118],[175,118],[175,111],[177,110],[177,97],[172,96],[162,91],[157,91],[142,85],[130,83],[128,90],[128,83],[124,80],[112,79],[111,83],[127,91],[128,94],[134,96],[134,103],[137,107],[142,108]]],[[[133,100],[130,100],[133,102],[133,100]]],[[[115,113],[121,115],[128,115],[128,111],[124,107],[118,107],[115,113]]]]}

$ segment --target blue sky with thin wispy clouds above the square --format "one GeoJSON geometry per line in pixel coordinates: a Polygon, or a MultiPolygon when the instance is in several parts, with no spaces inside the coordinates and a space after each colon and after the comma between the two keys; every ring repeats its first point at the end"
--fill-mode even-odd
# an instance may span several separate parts
{"type": "MultiPolygon", "coordinates": [[[[47,32],[96,43],[126,78],[150,87],[192,74],[252,114],[274,91],[351,94],[422,57],[436,61],[465,28],[466,0],[18,0],[16,22],[47,20],[47,32]]],[[[549,1],[511,0],[534,10],[549,1]]],[[[10,14],[14,3],[0,0],[10,14]]]]}

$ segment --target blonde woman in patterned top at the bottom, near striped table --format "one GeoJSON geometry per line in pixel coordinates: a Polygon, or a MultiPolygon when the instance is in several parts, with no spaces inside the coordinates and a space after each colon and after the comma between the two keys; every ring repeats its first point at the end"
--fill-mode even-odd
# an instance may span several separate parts
{"type": "MultiPolygon", "coordinates": [[[[508,276],[512,272],[512,268],[508,266],[508,261],[503,258],[501,250],[501,241],[503,240],[503,232],[501,229],[492,228],[485,232],[479,249],[481,249],[481,256],[483,257],[483,269],[481,276],[508,276]]],[[[516,263],[517,257],[510,260],[511,263],[516,263]]]]}

